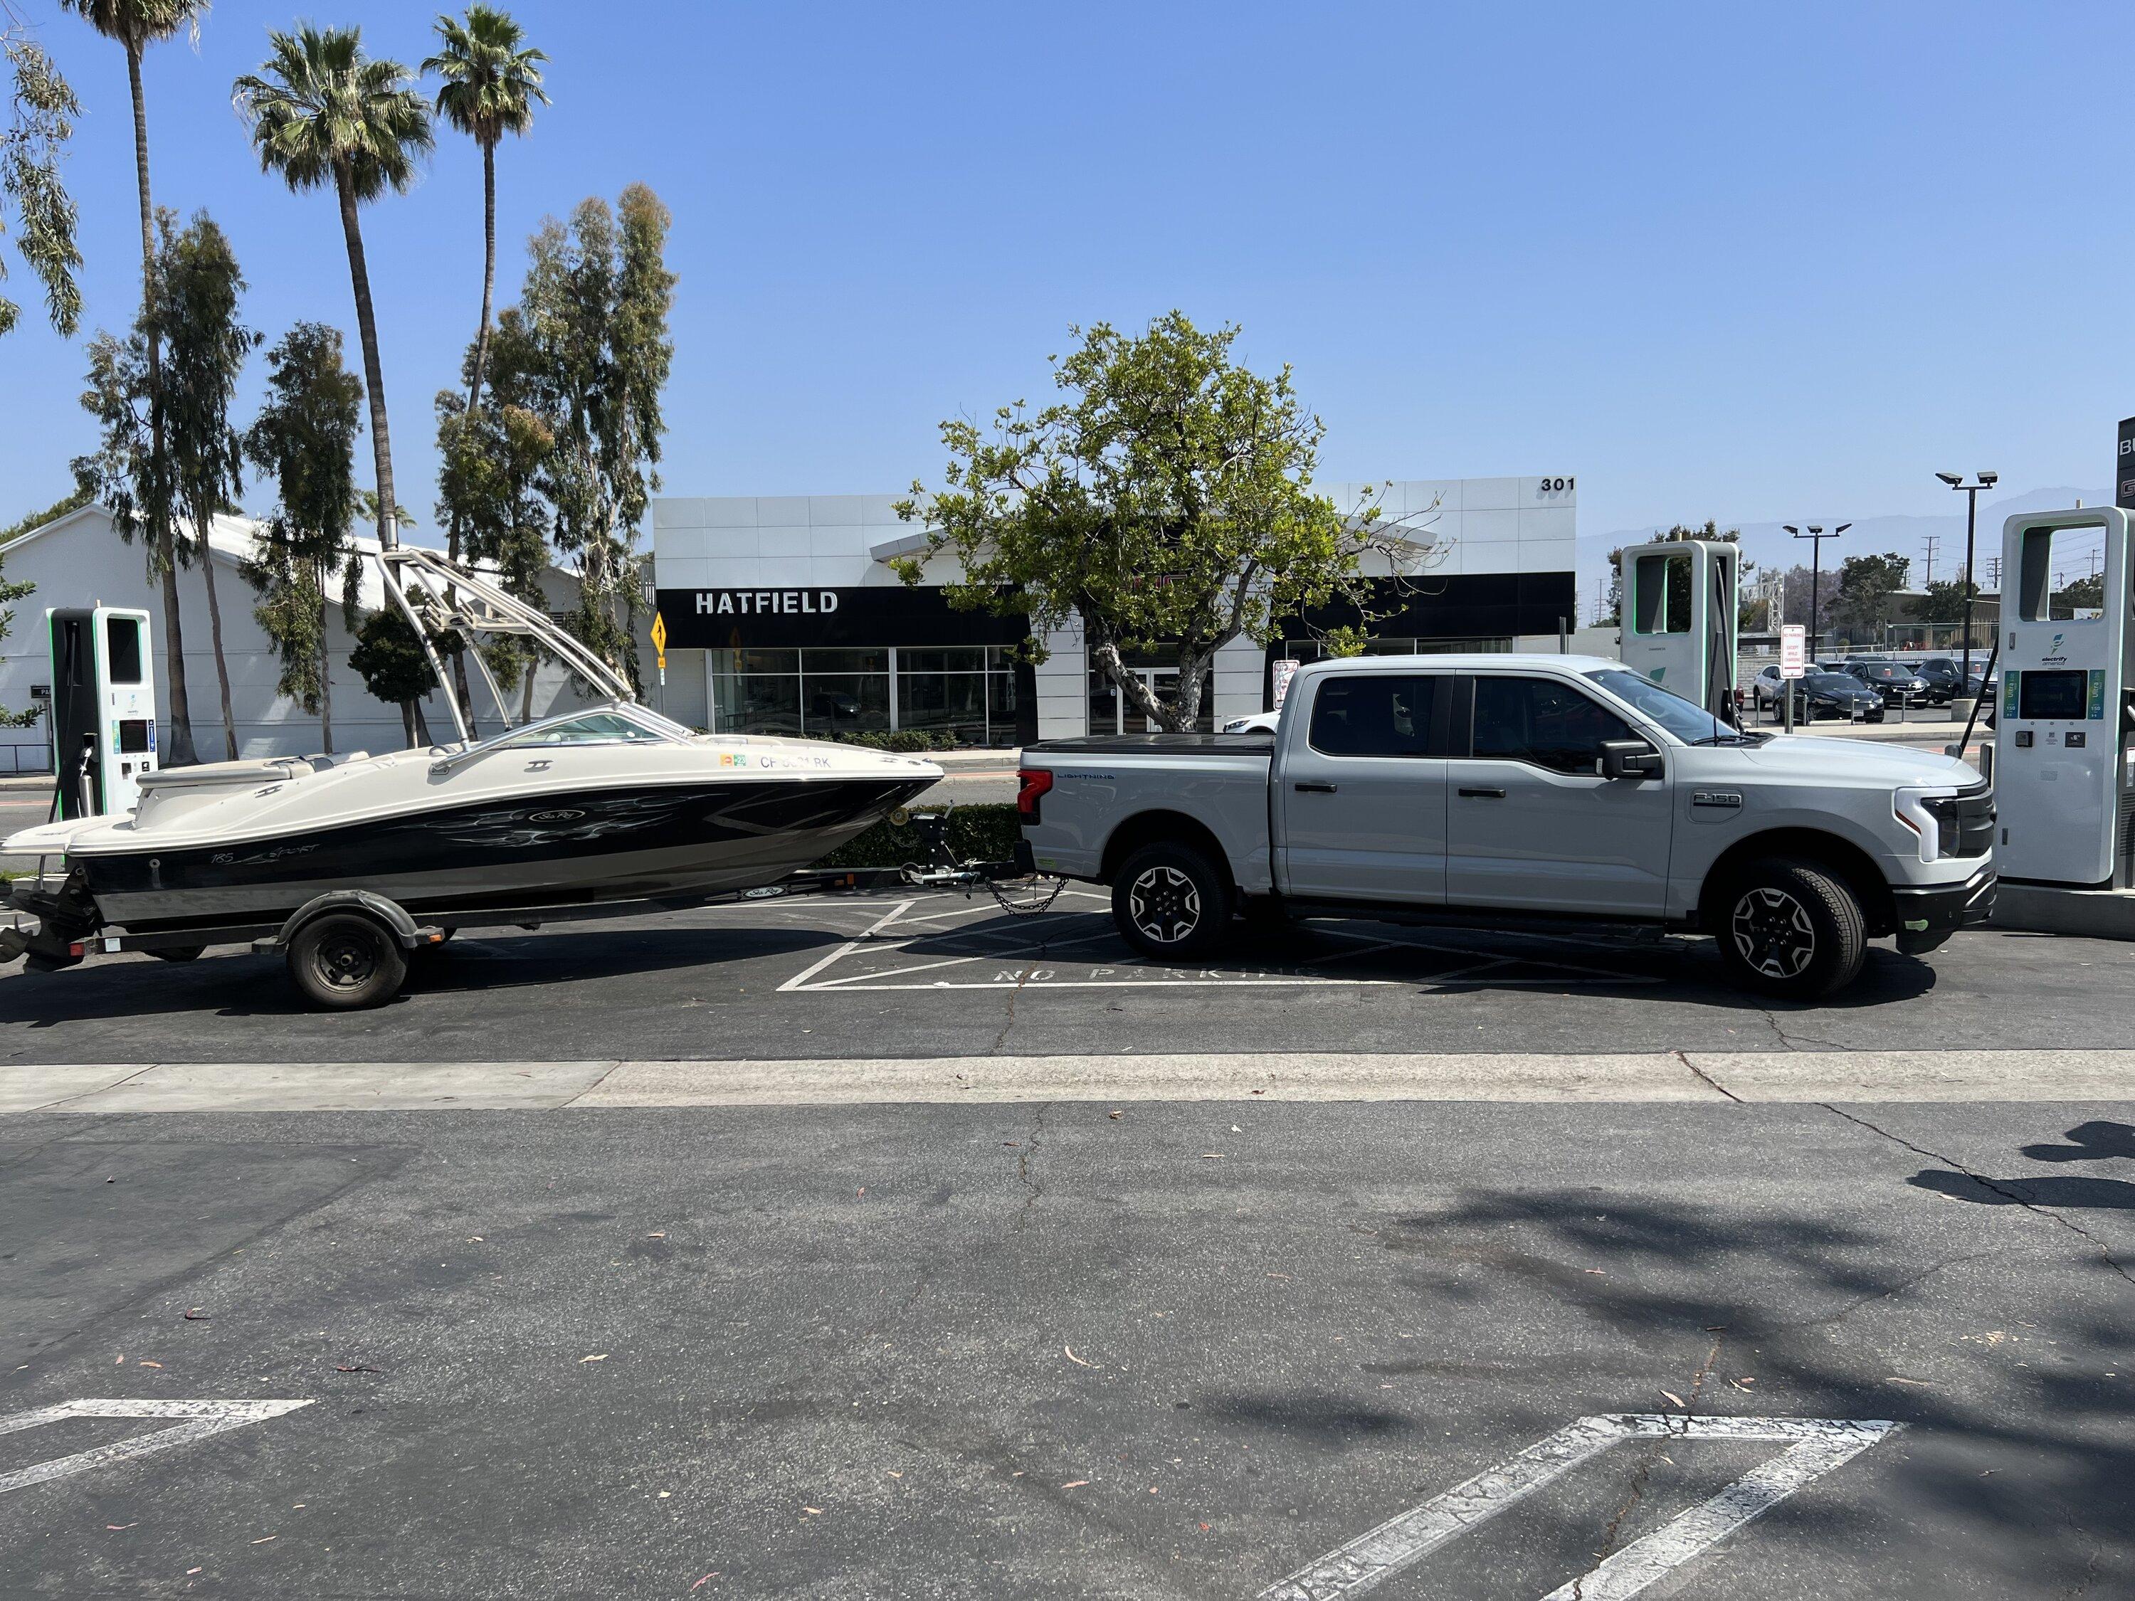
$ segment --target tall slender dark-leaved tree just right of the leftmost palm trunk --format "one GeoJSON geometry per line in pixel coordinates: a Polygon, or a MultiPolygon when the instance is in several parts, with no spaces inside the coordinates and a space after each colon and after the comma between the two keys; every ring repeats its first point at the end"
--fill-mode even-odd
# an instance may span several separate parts
{"type": "Polygon", "coordinates": [[[260,335],[237,320],[246,280],[228,237],[205,213],[184,233],[169,211],[158,216],[162,256],[156,263],[156,333],[164,342],[162,421],[171,453],[171,480],[179,508],[199,542],[207,581],[207,634],[216,651],[216,689],[222,694],[222,743],[237,760],[237,717],[231,711],[231,664],[222,653],[222,598],[216,591],[216,553],[209,529],[216,512],[235,510],[246,491],[243,444],[231,427],[231,401],[246,361],[260,335]]]}

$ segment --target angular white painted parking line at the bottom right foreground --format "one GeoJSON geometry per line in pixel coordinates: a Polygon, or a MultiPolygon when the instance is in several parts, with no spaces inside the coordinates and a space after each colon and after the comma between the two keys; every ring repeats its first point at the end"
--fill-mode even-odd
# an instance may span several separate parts
{"type": "Polygon", "coordinates": [[[1676,1417],[1608,1413],[1580,1417],[1518,1456],[1388,1518],[1260,1592],[1258,1601],[1337,1601],[1362,1595],[1454,1535],[1465,1535],[1535,1490],[1627,1439],[1783,1441],[1791,1449],[1753,1467],[1665,1528],[1635,1539],[1544,1601],[1629,1601],[1663,1573],[1717,1545],[1810,1479],[1866,1452],[1900,1424],[1847,1417],[1676,1417]]]}

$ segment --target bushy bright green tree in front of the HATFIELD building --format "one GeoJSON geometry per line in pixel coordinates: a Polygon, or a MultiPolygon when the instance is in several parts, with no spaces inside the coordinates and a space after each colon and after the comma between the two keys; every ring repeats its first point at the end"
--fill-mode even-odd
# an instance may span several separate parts
{"type": "Polygon", "coordinates": [[[1170,312],[1138,335],[1106,322],[1074,333],[1080,348],[1050,359],[1068,399],[1035,414],[1003,406],[993,429],[942,425],[946,487],[929,497],[914,482],[899,502],[899,517],[927,523],[927,553],[899,574],[918,583],[927,557],[954,551],[952,606],[1021,613],[1033,630],[1080,617],[1091,662],[1127,702],[1187,730],[1230,640],[1266,640],[1334,602],[1373,615],[1362,559],[1377,506],[1343,514],[1313,493],[1326,429],[1290,367],[1262,378],[1232,361],[1236,327],[1202,333],[1170,312]],[[1176,698],[1125,666],[1159,649],[1179,662],[1176,698]]]}

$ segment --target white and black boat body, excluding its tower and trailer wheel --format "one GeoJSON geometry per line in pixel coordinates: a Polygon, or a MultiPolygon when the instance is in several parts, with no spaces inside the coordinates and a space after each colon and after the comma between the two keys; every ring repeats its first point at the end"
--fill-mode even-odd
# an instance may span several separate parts
{"type": "Polygon", "coordinates": [[[416,918],[702,901],[773,884],[942,777],[910,756],[694,734],[611,702],[474,745],[149,773],[124,818],[13,835],[98,929],[280,922],[335,888],[416,918]]]}

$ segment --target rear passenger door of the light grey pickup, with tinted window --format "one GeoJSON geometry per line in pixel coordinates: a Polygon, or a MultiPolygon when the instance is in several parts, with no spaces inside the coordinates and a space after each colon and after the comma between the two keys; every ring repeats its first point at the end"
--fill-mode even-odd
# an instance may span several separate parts
{"type": "Polygon", "coordinates": [[[1332,672],[1275,773],[1281,888],[1298,899],[1445,899],[1452,672],[1332,672]]]}

